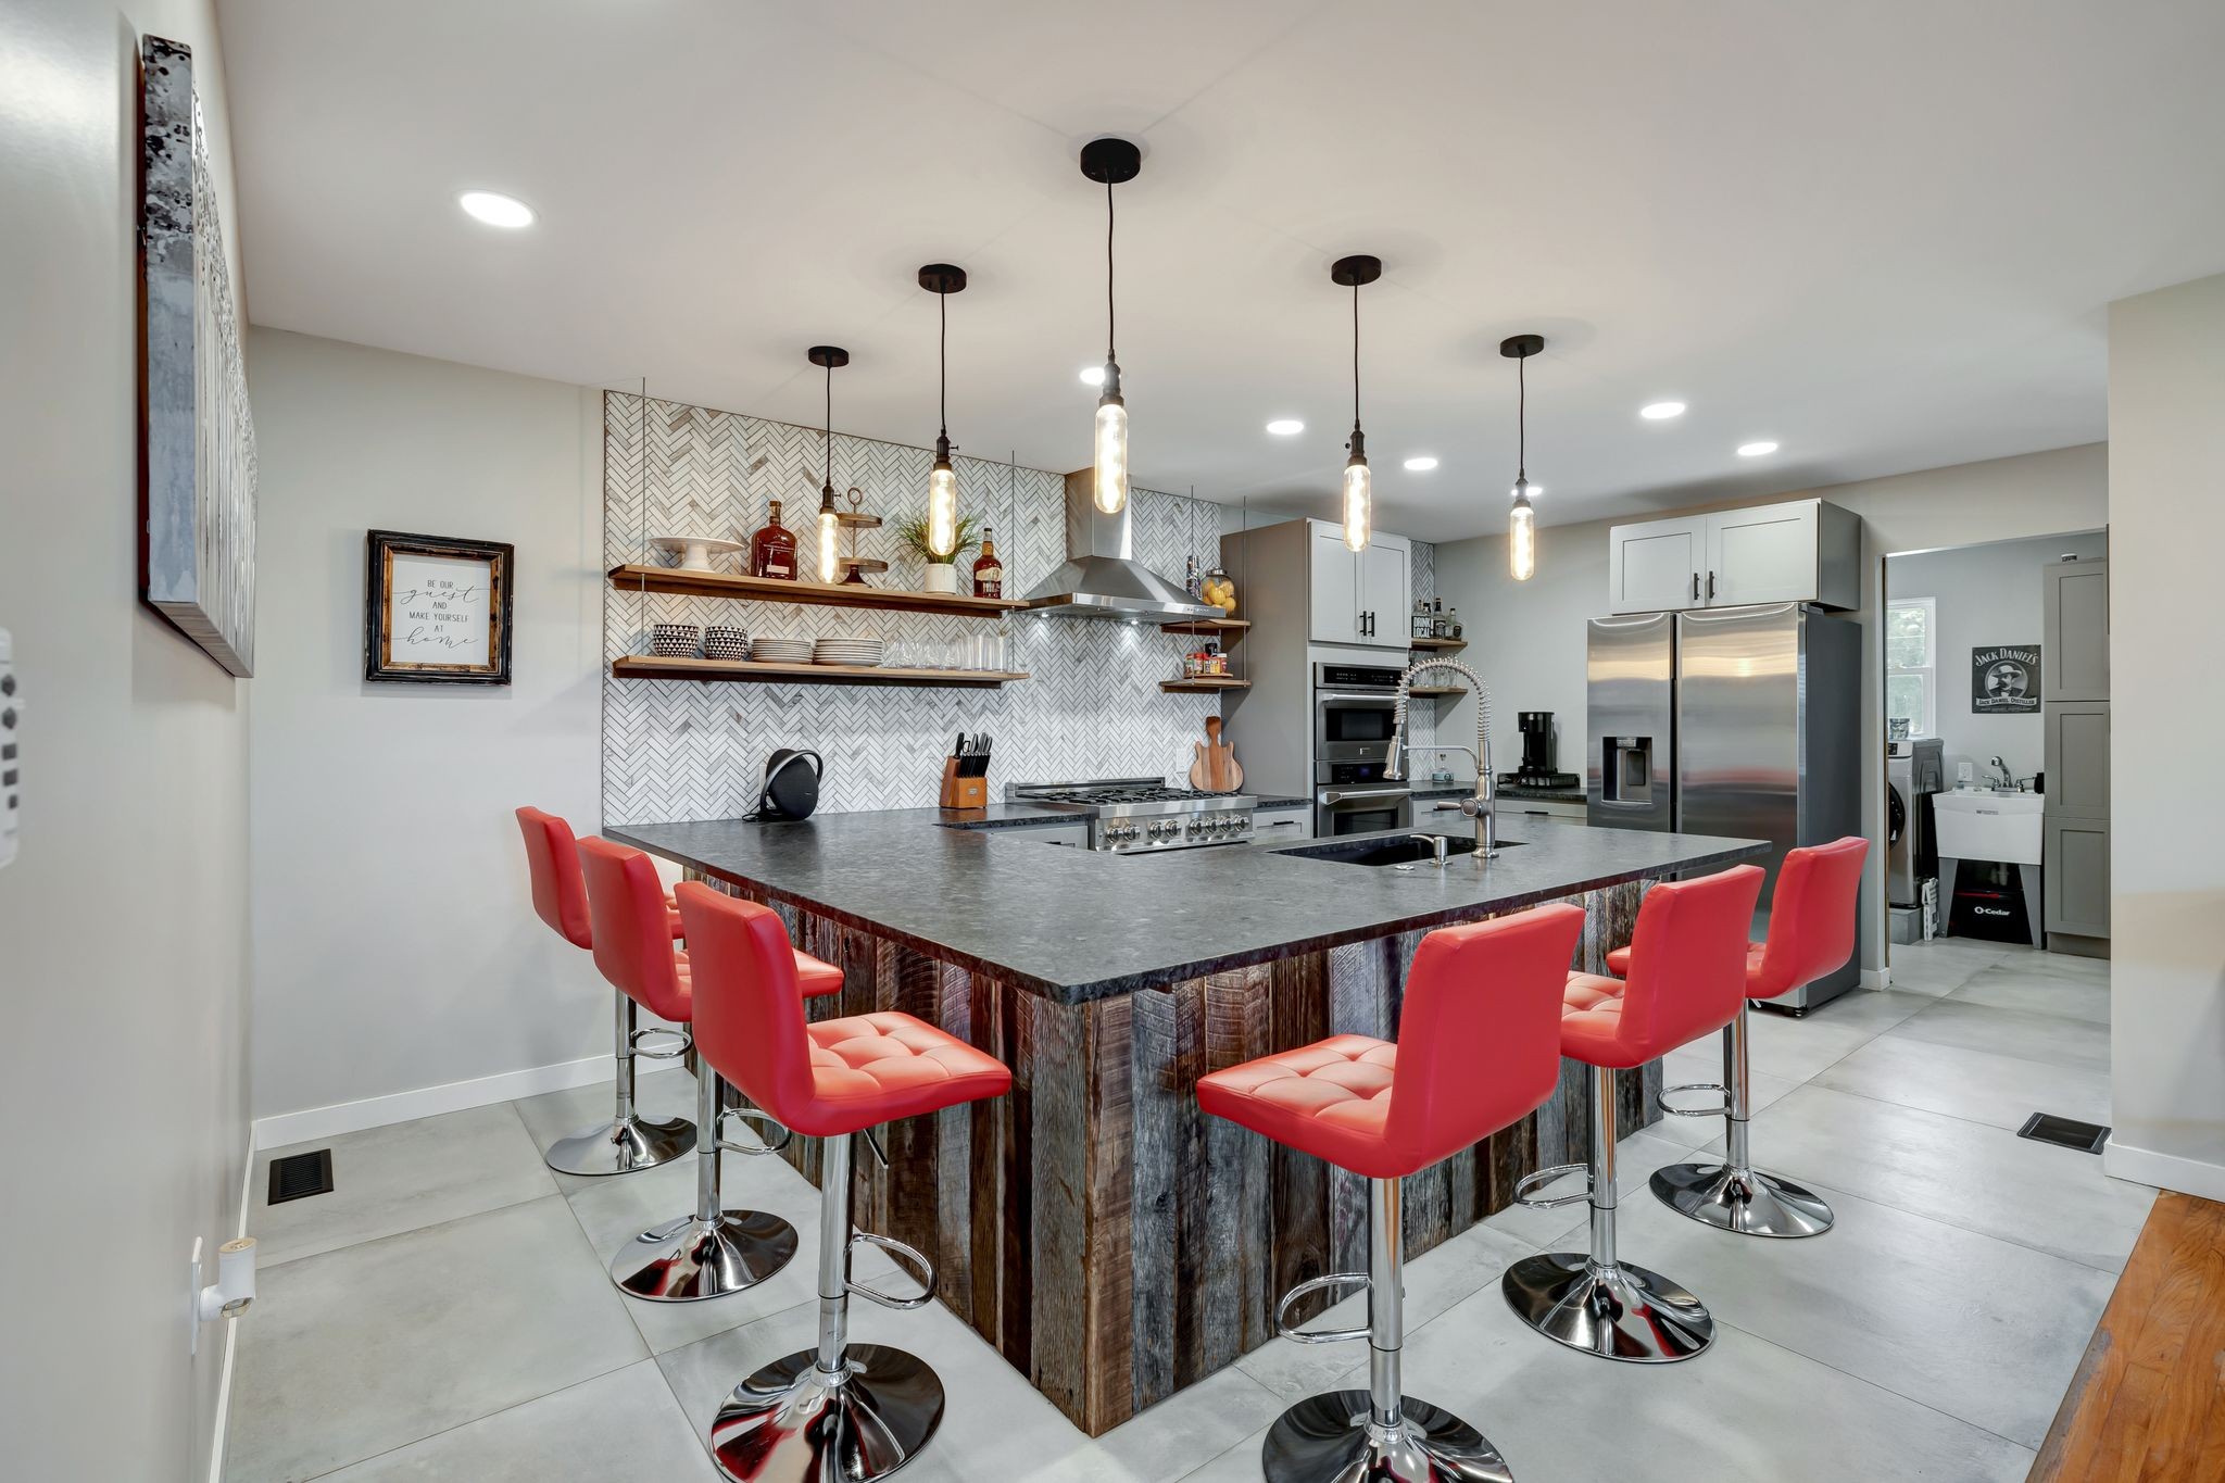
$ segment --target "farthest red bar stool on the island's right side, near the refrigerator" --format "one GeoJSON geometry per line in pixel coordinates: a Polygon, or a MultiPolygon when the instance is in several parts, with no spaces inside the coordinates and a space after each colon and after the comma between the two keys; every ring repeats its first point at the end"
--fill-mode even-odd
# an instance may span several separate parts
{"type": "MultiPolygon", "coordinates": [[[[1720,1092],[1724,1121],[1722,1163],[1673,1163],[1653,1172],[1653,1194],[1669,1210],[1740,1236],[1820,1236],[1831,1230],[1831,1207],[1820,1194],[1756,1170],[1747,1156],[1747,1003],[1791,994],[1853,956],[1856,898],[1862,894],[1867,854],[1869,840],[1849,834],[1784,856],[1769,903],[1769,938],[1747,945],[1747,998],[1738,1001],[1738,1016],[1722,1027],[1722,1085],[1662,1089],[1662,1112],[1684,1118],[1715,1116],[1718,1109],[1671,1107],[1671,1092],[1720,1092]]],[[[1606,956],[1606,967],[1615,974],[1626,976],[1629,963],[1629,947],[1606,956]]]]}

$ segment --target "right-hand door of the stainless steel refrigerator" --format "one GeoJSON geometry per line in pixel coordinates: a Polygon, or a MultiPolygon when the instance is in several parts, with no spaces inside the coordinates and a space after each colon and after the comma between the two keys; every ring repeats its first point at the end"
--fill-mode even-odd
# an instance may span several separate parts
{"type": "Polygon", "coordinates": [[[1762,909],[1800,829],[1798,603],[1678,614],[1678,814],[1684,834],[1771,843],[1762,909]]]}

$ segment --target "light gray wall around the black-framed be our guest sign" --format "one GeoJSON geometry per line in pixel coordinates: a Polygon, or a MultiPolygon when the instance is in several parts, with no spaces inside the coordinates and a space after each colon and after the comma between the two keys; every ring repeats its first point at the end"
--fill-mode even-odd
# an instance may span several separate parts
{"type": "Polygon", "coordinates": [[[256,1116],[607,1056],[610,989],[534,916],[510,816],[596,827],[596,394],[276,329],[249,382],[256,1116]],[[363,680],[372,527],[516,545],[512,685],[363,680]]]}

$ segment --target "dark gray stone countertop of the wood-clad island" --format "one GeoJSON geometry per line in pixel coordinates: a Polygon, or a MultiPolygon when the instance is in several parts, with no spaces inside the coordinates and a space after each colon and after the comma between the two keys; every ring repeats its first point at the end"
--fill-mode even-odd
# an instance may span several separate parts
{"type": "MultiPolygon", "coordinates": [[[[1024,823],[1012,809],[990,812],[1024,823]]],[[[1061,1003],[1475,920],[1769,849],[1760,840],[1509,818],[1500,858],[1477,867],[1455,856],[1437,874],[1279,854],[1288,845],[1121,856],[1030,838],[1028,829],[941,825],[941,809],[888,809],[768,825],[621,825],[605,834],[1061,1003]]],[[[1453,816],[1417,827],[1462,836],[1468,823],[1453,816]]]]}

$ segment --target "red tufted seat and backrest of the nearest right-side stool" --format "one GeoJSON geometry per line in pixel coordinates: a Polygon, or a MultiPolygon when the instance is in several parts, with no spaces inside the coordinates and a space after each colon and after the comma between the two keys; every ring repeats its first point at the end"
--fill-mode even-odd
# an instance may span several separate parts
{"type": "Polygon", "coordinates": [[[1553,987],[1582,925],[1553,905],[1440,927],[1406,974],[1404,1063],[1391,1041],[1328,1036],[1202,1076],[1197,1105],[1366,1178],[1424,1170],[1551,1094],[1553,987]]]}

